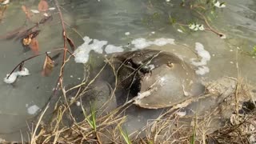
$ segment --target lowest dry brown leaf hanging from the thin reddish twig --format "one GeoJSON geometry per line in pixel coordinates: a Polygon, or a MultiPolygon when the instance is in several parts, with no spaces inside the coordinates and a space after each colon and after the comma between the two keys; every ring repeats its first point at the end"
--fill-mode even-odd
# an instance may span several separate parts
{"type": "Polygon", "coordinates": [[[49,76],[51,72],[54,70],[54,61],[50,58],[49,55],[46,55],[45,62],[42,66],[42,76],[49,76]]]}

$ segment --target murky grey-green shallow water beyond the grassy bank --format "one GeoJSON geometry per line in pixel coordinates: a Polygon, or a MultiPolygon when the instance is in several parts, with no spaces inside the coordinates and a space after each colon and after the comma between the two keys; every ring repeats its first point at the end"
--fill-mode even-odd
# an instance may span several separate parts
{"type": "MultiPolygon", "coordinates": [[[[115,46],[126,46],[134,38],[149,40],[174,38],[175,42],[186,44],[193,49],[195,42],[200,42],[211,54],[210,62],[207,63],[210,73],[205,74],[203,78],[211,80],[224,75],[237,77],[239,71],[242,78],[253,84],[256,82],[256,77],[254,77],[256,58],[245,54],[256,45],[256,2],[254,0],[226,0],[226,8],[217,10],[218,17],[214,18],[212,25],[226,34],[226,39],[218,38],[216,34],[209,31],[194,33],[189,31],[183,34],[178,32],[178,26],[170,26],[166,20],[167,14],[173,14],[178,20],[191,18],[188,10],[178,7],[178,2],[171,1],[172,5],[157,0],[102,0],[100,2],[76,0],[60,1],[60,3],[63,4],[62,10],[66,22],[78,30],[82,37],[89,36],[106,40],[115,46]],[[152,15],[155,17],[152,18],[152,15]],[[180,18],[179,15],[184,17],[180,18]],[[130,35],[126,35],[126,32],[130,32],[130,35]],[[236,62],[238,62],[238,66],[236,62]]],[[[33,9],[37,8],[37,2],[34,1],[10,3],[5,18],[0,23],[0,35],[22,26],[25,14],[22,13],[21,6],[24,4],[33,9]]],[[[70,38],[73,38],[76,46],[82,44],[82,39],[74,30],[68,30],[68,34],[70,38]]],[[[53,22],[42,26],[38,41],[40,52],[62,46],[58,14],[54,14],[53,22]]],[[[177,50],[174,51],[182,54],[182,50],[178,50],[178,47],[180,46],[177,46],[177,50]]],[[[1,41],[0,48],[2,50],[0,78],[5,78],[6,74],[10,73],[22,59],[33,55],[31,52],[23,53],[19,41],[1,41]]],[[[159,47],[160,49],[166,50],[168,46],[159,47]]],[[[43,60],[42,56],[26,62],[25,66],[30,70],[31,75],[26,78],[18,78],[15,86],[0,82],[2,91],[0,94],[0,134],[3,134],[3,138],[14,138],[10,134],[15,131],[16,138],[19,138],[17,130],[26,127],[26,119],[33,117],[27,113],[26,106],[36,105],[41,108],[52,94],[59,66],[50,77],[42,77],[40,71],[43,60]]],[[[69,67],[70,70],[66,70],[65,83],[78,82],[82,78],[82,64],[75,64],[72,61],[69,67]],[[70,78],[71,75],[73,78],[70,78]]],[[[134,127],[143,126],[142,123],[146,123],[147,119],[156,118],[158,115],[155,113],[150,118],[144,117],[143,115],[147,114],[147,111],[150,110],[142,110],[131,116],[127,129],[132,131],[134,127]]],[[[159,110],[160,112],[161,110],[159,110]]]]}

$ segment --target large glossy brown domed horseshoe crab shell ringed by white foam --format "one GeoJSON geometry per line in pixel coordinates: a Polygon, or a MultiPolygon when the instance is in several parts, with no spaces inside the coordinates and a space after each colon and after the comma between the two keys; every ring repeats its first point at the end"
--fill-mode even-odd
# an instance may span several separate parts
{"type": "Polygon", "coordinates": [[[118,65],[122,86],[138,88],[134,104],[143,108],[174,106],[204,92],[194,70],[174,54],[137,50],[120,54],[116,59],[122,62],[118,65]]]}

